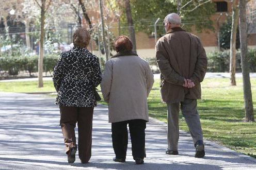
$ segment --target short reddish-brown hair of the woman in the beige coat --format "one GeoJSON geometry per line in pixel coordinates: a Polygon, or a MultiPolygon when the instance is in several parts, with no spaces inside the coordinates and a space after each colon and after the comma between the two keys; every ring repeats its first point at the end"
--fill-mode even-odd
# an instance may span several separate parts
{"type": "Polygon", "coordinates": [[[133,49],[133,44],[129,37],[119,36],[114,43],[114,48],[117,53],[131,52],[133,49]]]}

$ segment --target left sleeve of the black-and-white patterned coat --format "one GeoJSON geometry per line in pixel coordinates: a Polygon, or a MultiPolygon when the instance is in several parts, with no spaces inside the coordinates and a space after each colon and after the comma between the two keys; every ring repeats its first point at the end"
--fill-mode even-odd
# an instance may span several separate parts
{"type": "Polygon", "coordinates": [[[65,53],[61,53],[59,60],[57,61],[56,66],[54,67],[53,71],[53,84],[57,92],[59,92],[61,81],[64,77],[63,75],[63,57],[65,56],[65,53]]]}

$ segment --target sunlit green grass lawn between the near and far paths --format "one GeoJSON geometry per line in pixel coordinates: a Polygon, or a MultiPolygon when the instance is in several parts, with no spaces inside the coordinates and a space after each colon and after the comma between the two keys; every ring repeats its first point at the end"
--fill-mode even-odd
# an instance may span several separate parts
{"type": "MultiPolygon", "coordinates": [[[[229,86],[228,78],[209,78],[202,82],[198,111],[203,135],[205,139],[256,158],[256,122],[244,122],[243,83],[241,78],[236,81],[235,87],[229,86]]],[[[153,88],[157,90],[152,90],[148,98],[149,115],[167,122],[167,108],[161,103],[158,84],[159,79],[156,79],[153,88]]],[[[256,78],[251,79],[251,90],[256,113],[256,78]]],[[[44,87],[40,89],[37,88],[37,81],[0,82],[0,91],[42,92],[54,91],[54,87],[52,81],[44,81],[44,87]]],[[[105,104],[104,101],[100,103],[105,104]]],[[[181,114],[180,129],[188,131],[181,114]]]]}

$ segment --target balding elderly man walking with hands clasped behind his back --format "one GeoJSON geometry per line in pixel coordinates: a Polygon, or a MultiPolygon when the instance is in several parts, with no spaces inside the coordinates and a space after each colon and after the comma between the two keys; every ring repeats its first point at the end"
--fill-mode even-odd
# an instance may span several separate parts
{"type": "Polygon", "coordinates": [[[178,155],[179,110],[186,120],[196,147],[196,158],[204,157],[203,134],[197,112],[197,99],[201,98],[207,58],[195,35],[180,27],[176,13],[164,20],[166,35],[156,43],[156,61],[161,71],[161,95],[167,104],[168,148],[166,154],[178,155]]]}

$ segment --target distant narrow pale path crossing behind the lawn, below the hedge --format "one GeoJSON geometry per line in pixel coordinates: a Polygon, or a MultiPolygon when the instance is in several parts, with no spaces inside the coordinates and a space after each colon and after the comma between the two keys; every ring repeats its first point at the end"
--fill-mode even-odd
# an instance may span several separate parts
{"type": "MultiPolygon", "coordinates": [[[[236,78],[242,78],[242,73],[236,73],[236,78]]],[[[205,78],[229,78],[229,73],[206,73],[205,78]]],[[[251,78],[256,77],[256,73],[250,73],[251,78]]],[[[160,78],[160,74],[154,74],[154,78],[160,78]]],[[[52,80],[52,77],[43,77],[43,80],[52,80]]],[[[0,80],[0,82],[9,82],[9,81],[37,81],[38,78],[21,78],[21,79],[9,79],[9,80],[0,80]]]]}

